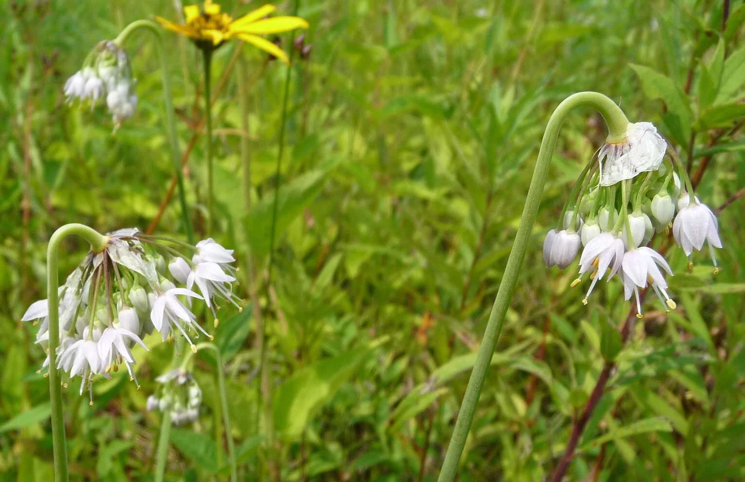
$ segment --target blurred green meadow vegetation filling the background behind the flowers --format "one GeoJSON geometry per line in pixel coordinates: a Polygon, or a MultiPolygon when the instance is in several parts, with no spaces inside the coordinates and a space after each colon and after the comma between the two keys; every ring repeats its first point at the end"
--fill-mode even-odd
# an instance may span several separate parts
{"type": "MultiPolygon", "coordinates": [[[[232,13],[261,4],[222,3],[232,13]]],[[[289,14],[294,4],[277,7],[289,14]]],[[[223,308],[215,329],[241,480],[437,478],[546,121],[580,90],[609,95],[631,121],[654,122],[709,206],[735,199],[720,212],[716,278],[705,256],[686,273],[685,256],[671,250],[679,308],[667,317],[650,309],[636,324],[568,478],[744,480],[741,2],[301,0],[298,13],[311,23],[312,50],[291,67],[279,179],[287,69],[238,42],[213,66],[213,85],[224,84],[213,110],[215,238],[246,267],[238,293],[248,299],[254,290],[258,301],[240,314],[223,308]],[[241,136],[250,142],[248,211],[241,136]]],[[[105,232],[156,220],[156,232],[183,236],[177,200],[159,214],[173,167],[150,39],[126,45],[140,101],[114,135],[105,109],[69,106],[62,94],[96,42],[154,15],[175,18],[174,1],[3,2],[0,481],[52,477],[48,383],[36,373],[44,354],[36,330],[19,321],[45,297],[51,233],[69,222],[105,232]]],[[[186,186],[203,232],[200,57],[188,42],[165,39],[181,148],[195,139],[186,186]]],[[[282,37],[286,51],[292,40],[282,37]]],[[[460,481],[547,476],[603,365],[601,321],[626,317],[620,284],[603,285],[584,307],[580,288],[568,286],[574,271],[541,261],[543,235],[604,129],[594,112],[578,111],[559,136],[460,481]]],[[[63,275],[85,250],[66,244],[63,275]]],[[[73,480],[151,480],[159,416],[145,399],[171,347],[146,341],[142,390],[115,376],[95,385],[92,407],[67,393],[73,480]]],[[[201,417],[174,429],[166,478],[225,480],[214,361],[200,354],[195,373],[201,417]]]]}

